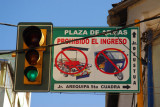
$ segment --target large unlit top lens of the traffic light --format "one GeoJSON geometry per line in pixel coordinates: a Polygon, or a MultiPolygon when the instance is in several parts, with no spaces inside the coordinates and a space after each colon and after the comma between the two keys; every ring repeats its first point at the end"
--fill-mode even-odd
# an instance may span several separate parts
{"type": "Polygon", "coordinates": [[[41,37],[42,37],[41,30],[36,26],[27,27],[23,31],[23,40],[28,47],[40,46],[41,37]]]}

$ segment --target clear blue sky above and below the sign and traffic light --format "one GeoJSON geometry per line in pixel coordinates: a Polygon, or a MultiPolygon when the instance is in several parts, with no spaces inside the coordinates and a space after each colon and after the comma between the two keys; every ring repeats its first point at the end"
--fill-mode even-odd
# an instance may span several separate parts
{"type": "MultiPolygon", "coordinates": [[[[121,0],[1,0],[0,23],[52,22],[54,27],[107,27],[121,0]]],[[[17,27],[0,25],[0,50],[15,50],[17,27]]],[[[104,107],[105,93],[32,93],[31,107],[104,107]]]]}

